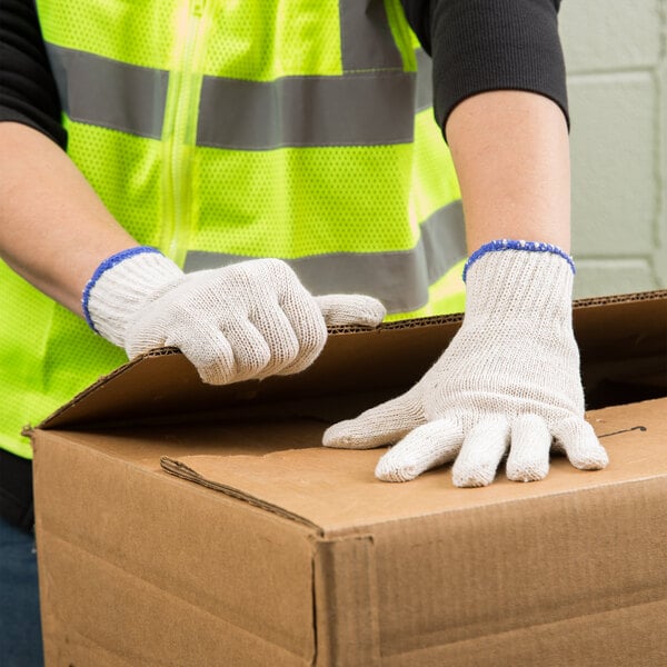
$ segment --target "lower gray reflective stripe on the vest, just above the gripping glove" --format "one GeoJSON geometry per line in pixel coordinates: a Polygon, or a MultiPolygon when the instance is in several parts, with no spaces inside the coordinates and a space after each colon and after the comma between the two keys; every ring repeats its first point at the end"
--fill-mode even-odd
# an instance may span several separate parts
{"type": "MultiPolygon", "coordinates": [[[[367,293],[380,299],[388,312],[408,312],[428,302],[428,288],[466,257],[460,201],[438,209],[421,225],[421,238],[410,250],[337,252],[288,259],[315,295],[367,293]]],[[[212,269],[251,259],[238,255],[190,251],[186,271],[212,269]]]]}

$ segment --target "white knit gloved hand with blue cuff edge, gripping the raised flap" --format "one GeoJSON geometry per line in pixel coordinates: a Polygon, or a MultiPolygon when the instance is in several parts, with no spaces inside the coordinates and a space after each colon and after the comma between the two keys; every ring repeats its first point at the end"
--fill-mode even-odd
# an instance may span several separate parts
{"type": "Polygon", "coordinates": [[[82,305],[91,328],[130,359],[176,346],[211,385],[299,372],[323,348],[327,325],[375,327],[385,317],[371,297],[312,297],[278,259],[183,273],[146,247],[102,262],[82,305]]]}

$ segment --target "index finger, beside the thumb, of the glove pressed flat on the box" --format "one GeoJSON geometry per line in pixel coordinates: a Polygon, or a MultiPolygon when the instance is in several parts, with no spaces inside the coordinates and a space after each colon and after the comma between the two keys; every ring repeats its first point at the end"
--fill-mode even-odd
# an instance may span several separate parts
{"type": "Polygon", "coordinates": [[[436,419],[408,434],[380,458],[376,477],[382,481],[409,481],[426,470],[454,459],[464,439],[452,419],[436,419]]]}

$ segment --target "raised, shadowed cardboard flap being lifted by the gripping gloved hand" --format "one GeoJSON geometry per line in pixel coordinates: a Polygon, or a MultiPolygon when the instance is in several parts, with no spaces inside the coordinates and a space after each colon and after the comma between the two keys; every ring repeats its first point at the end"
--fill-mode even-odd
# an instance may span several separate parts
{"type": "MultiPolygon", "coordinates": [[[[647,374],[653,374],[653,382],[665,382],[665,312],[667,290],[576,302],[575,332],[589,405],[610,402],[604,396],[609,382],[633,382],[647,374]]],[[[334,418],[342,418],[416,382],[449,344],[461,320],[462,316],[455,315],[386,323],[371,331],[340,328],[306,371],[223,387],[202,384],[178,350],[156,350],[101,378],[39,428],[123,426],[183,420],[193,415],[203,418],[207,414],[222,419],[258,406],[272,406],[282,415],[313,414],[321,409],[318,400],[328,396],[341,397],[334,406],[340,414],[334,418]],[[355,398],[364,396],[368,398],[355,398]]]]}

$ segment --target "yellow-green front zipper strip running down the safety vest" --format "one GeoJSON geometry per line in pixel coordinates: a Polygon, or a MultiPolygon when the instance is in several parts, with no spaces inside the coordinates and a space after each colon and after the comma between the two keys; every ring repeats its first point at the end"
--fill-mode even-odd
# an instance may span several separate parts
{"type": "Polygon", "coordinates": [[[162,226],[160,249],[183,266],[198,219],[195,145],[202,74],[207,0],[185,2],[177,19],[177,40],[162,130],[162,226]]]}

